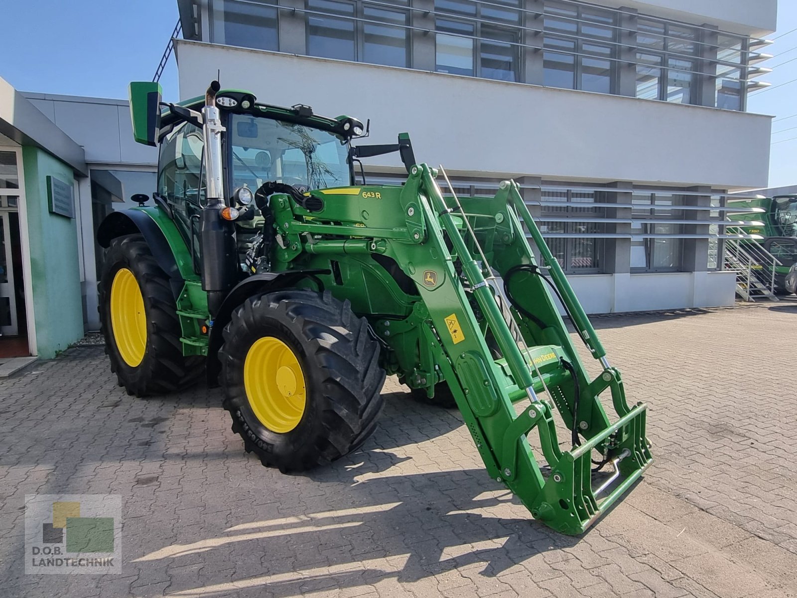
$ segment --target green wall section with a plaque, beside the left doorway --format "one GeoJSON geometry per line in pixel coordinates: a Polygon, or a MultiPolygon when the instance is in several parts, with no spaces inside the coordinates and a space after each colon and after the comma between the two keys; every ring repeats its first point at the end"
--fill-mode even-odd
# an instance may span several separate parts
{"type": "Polygon", "coordinates": [[[38,148],[22,148],[38,355],[51,359],[83,337],[80,256],[74,218],[50,214],[47,176],[73,184],[73,170],[38,148]]]}

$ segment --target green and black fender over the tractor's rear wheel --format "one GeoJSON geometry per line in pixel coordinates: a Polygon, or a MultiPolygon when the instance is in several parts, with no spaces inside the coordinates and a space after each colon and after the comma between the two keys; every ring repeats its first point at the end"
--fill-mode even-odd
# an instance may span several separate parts
{"type": "Polygon", "coordinates": [[[174,222],[156,207],[139,207],[112,212],[97,230],[97,242],[108,249],[111,241],[126,234],[142,234],[155,262],[169,277],[175,300],[186,280],[198,280],[190,253],[174,222]]]}

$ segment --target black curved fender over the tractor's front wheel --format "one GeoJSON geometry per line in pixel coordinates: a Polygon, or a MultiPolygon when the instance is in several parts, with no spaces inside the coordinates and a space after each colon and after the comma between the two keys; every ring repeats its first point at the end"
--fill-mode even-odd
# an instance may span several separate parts
{"type": "Polygon", "coordinates": [[[285,272],[266,272],[253,274],[235,285],[222,301],[218,314],[210,325],[208,338],[206,373],[209,388],[218,387],[218,375],[222,371],[222,362],[218,360],[218,350],[222,348],[224,327],[230,323],[233,310],[249,297],[266,293],[274,289],[285,289],[296,285],[302,278],[316,274],[329,274],[327,269],[285,270],[285,272]]]}

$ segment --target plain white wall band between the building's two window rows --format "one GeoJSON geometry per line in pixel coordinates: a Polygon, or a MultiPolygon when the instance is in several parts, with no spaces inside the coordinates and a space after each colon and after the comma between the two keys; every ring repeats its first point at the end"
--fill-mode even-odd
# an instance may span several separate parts
{"type": "MultiPolygon", "coordinates": [[[[454,174],[719,188],[768,179],[768,116],[196,41],[178,41],[177,52],[183,98],[220,70],[224,87],[269,104],[370,118],[368,143],[410,132],[419,161],[454,174]]],[[[400,166],[395,156],[367,162],[400,166]]]]}

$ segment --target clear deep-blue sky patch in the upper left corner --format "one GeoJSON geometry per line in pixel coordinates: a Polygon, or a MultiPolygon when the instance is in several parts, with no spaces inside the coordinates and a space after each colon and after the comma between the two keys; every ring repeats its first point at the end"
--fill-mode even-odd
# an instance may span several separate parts
{"type": "MultiPolygon", "coordinates": [[[[128,96],[151,81],[177,24],[176,0],[0,0],[0,77],[25,92],[128,96]]],[[[172,56],[161,78],[178,100],[172,56]]]]}

